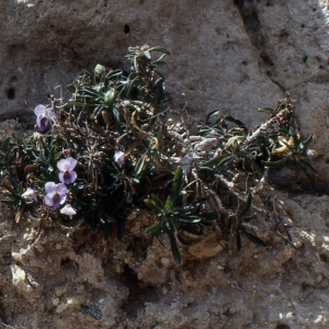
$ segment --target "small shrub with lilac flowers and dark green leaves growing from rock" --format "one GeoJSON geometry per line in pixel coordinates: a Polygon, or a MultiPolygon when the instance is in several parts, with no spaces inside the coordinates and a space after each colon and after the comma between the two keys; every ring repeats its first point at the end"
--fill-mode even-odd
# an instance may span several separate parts
{"type": "Polygon", "coordinates": [[[37,105],[36,128],[27,138],[7,137],[0,147],[1,186],[19,223],[25,214],[65,223],[86,220],[105,236],[125,234],[126,217],[145,212],[146,231],[166,232],[177,263],[179,245],[213,229],[219,240],[241,236],[265,247],[248,223],[257,214],[270,168],[295,161],[314,172],[316,156],[294,120],[287,94],[256,129],[212,111],[191,136],[184,111],[168,118],[160,47],[128,48],[131,72],[97,65],[67,89],[69,100],[37,105]],[[159,57],[152,59],[154,55],[159,57]],[[166,113],[166,115],[164,115],[166,113]]]}

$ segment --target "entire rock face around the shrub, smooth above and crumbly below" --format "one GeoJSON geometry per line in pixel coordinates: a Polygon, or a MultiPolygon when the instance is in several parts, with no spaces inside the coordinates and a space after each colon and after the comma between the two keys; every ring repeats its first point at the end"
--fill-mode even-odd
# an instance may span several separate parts
{"type": "MultiPolygon", "coordinates": [[[[16,0],[0,2],[0,19],[1,120],[33,122],[34,106],[46,104],[47,93],[65,97],[65,84],[81,69],[97,63],[128,69],[122,60],[128,46],[160,45],[172,53],[167,90],[178,109],[188,102],[193,117],[220,109],[256,125],[264,118],[258,107],[273,107],[291,91],[303,132],[316,134],[314,147],[325,155],[316,163],[319,177],[329,181],[325,0],[16,0]]],[[[294,247],[273,234],[264,250],[243,240],[240,253],[218,249],[181,269],[166,239],[109,241],[83,227],[35,219],[13,226],[2,206],[1,322],[328,328],[329,198],[280,197],[295,227],[294,247]]]]}

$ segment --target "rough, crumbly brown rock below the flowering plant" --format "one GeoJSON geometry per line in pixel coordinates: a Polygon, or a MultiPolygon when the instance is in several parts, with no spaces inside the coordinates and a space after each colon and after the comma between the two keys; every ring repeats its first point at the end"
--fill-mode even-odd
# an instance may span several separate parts
{"type": "Polygon", "coordinates": [[[164,237],[150,246],[143,235],[118,242],[84,226],[31,218],[12,227],[1,220],[1,322],[13,328],[328,328],[329,197],[273,193],[290,214],[293,246],[270,230],[266,249],[243,239],[241,252],[196,254],[182,268],[164,237]]]}

